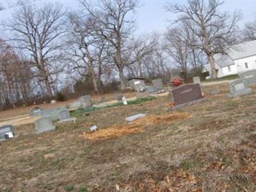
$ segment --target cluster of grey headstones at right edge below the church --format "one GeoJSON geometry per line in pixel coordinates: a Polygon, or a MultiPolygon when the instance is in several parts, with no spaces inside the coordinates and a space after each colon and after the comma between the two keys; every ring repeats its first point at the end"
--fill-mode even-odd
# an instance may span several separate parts
{"type": "Polygon", "coordinates": [[[237,97],[252,93],[252,88],[249,86],[253,84],[256,84],[256,70],[240,73],[239,79],[236,79],[229,84],[230,93],[228,93],[228,97],[237,97]]]}

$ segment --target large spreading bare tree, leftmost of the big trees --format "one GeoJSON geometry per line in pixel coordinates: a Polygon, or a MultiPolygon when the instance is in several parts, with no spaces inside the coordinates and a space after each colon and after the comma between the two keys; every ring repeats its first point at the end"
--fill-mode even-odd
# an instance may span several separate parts
{"type": "Polygon", "coordinates": [[[20,8],[13,13],[12,20],[4,23],[10,33],[13,47],[31,54],[32,67],[36,68],[38,83],[44,82],[47,95],[52,97],[51,84],[54,75],[61,72],[63,42],[67,31],[67,20],[60,4],[46,4],[37,8],[35,4],[20,1],[20,8]]]}

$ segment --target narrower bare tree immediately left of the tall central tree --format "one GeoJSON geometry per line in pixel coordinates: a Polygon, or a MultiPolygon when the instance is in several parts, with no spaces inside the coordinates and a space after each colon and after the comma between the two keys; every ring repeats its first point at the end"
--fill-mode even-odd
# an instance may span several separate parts
{"type": "MultiPolygon", "coordinates": [[[[69,43],[72,50],[73,69],[76,69],[81,76],[92,77],[93,88],[98,93],[99,78],[95,72],[95,60],[98,53],[97,48],[102,53],[102,47],[96,46],[100,44],[100,40],[95,32],[96,20],[79,13],[70,13],[69,19],[72,23],[69,43]]],[[[104,44],[101,45],[104,47],[104,44]]]]}

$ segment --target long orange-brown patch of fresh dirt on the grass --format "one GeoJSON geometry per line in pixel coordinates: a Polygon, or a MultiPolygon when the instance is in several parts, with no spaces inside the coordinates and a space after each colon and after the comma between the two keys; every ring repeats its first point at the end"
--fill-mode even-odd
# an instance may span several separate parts
{"type": "Polygon", "coordinates": [[[106,140],[110,138],[120,137],[125,134],[141,132],[147,128],[148,124],[172,122],[174,120],[187,118],[188,116],[189,115],[186,113],[173,113],[171,115],[150,115],[135,120],[134,122],[131,122],[129,124],[114,125],[106,129],[100,129],[96,132],[83,132],[82,135],[88,140],[106,140]]]}

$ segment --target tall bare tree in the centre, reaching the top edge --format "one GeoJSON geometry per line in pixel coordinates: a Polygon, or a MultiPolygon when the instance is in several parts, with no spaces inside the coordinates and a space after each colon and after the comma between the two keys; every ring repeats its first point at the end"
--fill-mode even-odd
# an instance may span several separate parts
{"type": "MultiPolygon", "coordinates": [[[[121,89],[125,89],[126,81],[124,68],[136,62],[129,60],[127,62],[125,55],[129,53],[127,42],[134,32],[134,20],[128,19],[128,14],[134,12],[138,6],[135,0],[116,0],[100,2],[95,10],[87,3],[81,1],[84,8],[90,15],[97,20],[99,24],[99,33],[111,44],[113,49],[109,49],[109,56],[113,56],[121,82],[121,89]]],[[[138,58],[136,58],[138,59],[138,58]]]]}

